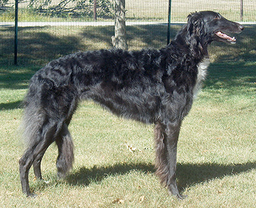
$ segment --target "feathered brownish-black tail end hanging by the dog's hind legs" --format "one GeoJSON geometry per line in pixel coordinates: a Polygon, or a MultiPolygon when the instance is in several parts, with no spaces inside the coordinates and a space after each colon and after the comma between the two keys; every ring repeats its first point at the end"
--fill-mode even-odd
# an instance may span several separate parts
{"type": "Polygon", "coordinates": [[[74,143],[67,124],[63,124],[60,136],[56,139],[56,144],[59,150],[56,166],[58,177],[62,178],[72,169],[74,163],[74,143]]]}

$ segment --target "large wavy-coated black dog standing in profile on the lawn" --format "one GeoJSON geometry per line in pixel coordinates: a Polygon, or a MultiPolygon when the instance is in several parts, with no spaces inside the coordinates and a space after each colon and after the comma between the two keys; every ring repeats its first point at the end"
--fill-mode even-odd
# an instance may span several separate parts
{"type": "Polygon", "coordinates": [[[42,179],[40,163],[56,142],[60,177],[72,168],[73,142],[68,124],[82,99],[92,99],[125,118],[156,124],[156,174],[178,198],[176,154],[180,124],[205,79],[207,46],[212,41],[235,43],[225,33],[240,33],[243,26],[219,13],[197,12],[170,45],[163,49],[121,49],[78,52],[51,61],[36,72],[24,100],[24,137],[28,148],[21,157],[22,191],[29,191],[33,164],[42,179]]]}

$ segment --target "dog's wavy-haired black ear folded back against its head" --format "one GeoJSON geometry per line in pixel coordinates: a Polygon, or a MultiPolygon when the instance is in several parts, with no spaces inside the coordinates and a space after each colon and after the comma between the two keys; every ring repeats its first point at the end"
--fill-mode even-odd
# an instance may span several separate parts
{"type": "Polygon", "coordinates": [[[188,15],[187,31],[189,32],[189,35],[192,35],[194,33],[199,36],[200,31],[202,31],[202,28],[204,26],[203,23],[204,19],[202,13],[195,12],[188,15]]]}

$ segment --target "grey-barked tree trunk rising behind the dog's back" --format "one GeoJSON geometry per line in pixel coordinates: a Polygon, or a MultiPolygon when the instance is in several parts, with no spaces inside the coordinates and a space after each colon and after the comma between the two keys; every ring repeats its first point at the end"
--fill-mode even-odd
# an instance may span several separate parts
{"type": "Polygon", "coordinates": [[[112,36],[113,46],[128,49],[125,30],[125,0],[115,0],[115,36],[112,36]]]}

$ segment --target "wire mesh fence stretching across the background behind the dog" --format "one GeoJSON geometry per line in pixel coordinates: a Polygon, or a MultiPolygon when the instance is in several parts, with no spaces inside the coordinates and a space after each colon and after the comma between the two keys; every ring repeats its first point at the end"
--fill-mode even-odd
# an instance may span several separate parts
{"type": "MultiPolygon", "coordinates": [[[[189,13],[201,10],[214,10],[234,21],[256,22],[255,0],[171,2],[172,38],[189,13]]],[[[13,64],[14,4],[14,0],[0,0],[3,64],[13,64]]],[[[129,49],[166,45],[169,0],[126,0],[125,4],[129,49]]],[[[72,52],[110,48],[114,35],[113,0],[19,0],[18,25],[20,65],[44,65],[72,52]]]]}

